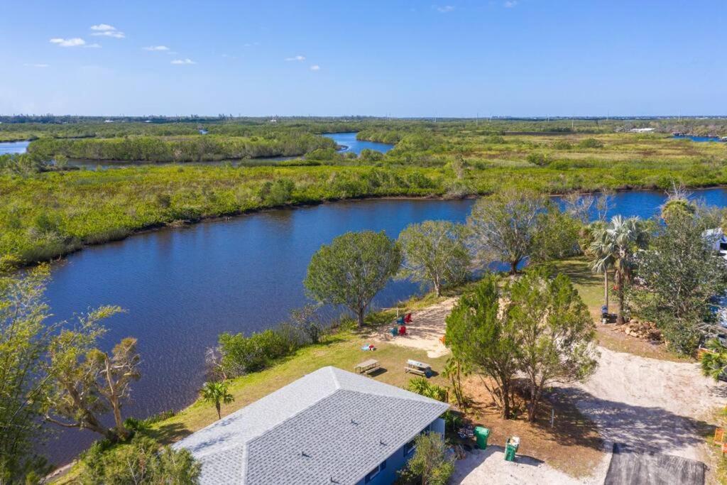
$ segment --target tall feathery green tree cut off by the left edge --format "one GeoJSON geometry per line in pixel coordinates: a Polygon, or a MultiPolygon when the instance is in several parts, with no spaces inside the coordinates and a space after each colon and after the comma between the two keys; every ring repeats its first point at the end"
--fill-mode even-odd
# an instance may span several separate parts
{"type": "Polygon", "coordinates": [[[47,323],[43,302],[48,277],[47,266],[20,278],[0,277],[0,484],[22,483],[28,474],[46,471],[34,444],[43,439],[42,358],[57,328],[47,323]]]}

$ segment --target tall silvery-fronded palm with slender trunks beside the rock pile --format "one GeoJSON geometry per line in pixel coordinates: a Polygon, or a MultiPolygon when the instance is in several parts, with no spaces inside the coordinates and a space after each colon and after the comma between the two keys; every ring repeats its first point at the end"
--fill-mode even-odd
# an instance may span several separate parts
{"type": "Polygon", "coordinates": [[[638,217],[624,218],[620,215],[611,218],[608,225],[596,226],[593,229],[593,241],[589,252],[594,259],[591,269],[603,273],[604,294],[608,308],[608,269],[614,269],[616,291],[619,295],[619,313],[616,322],[624,323],[624,285],[631,281],[635,265],[635,250],[643,246],[646,232],[641,227],[638,217]]]}

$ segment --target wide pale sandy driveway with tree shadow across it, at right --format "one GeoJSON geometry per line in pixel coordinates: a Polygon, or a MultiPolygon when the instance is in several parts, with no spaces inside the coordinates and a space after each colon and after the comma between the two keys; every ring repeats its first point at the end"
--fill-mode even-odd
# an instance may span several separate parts
{"type": "Polygon", "coordinates": [[[660,361],[599,348],[587,382],[561,388],[598,425],[601,436],[635,449],[704,460],[699,429],[727,389],[702,376],[698,364],[660,361]]]}

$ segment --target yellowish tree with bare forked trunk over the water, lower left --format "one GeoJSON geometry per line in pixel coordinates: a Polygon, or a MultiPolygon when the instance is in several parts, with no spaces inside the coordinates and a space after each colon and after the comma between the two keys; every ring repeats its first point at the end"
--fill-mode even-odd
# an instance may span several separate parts
{"type": "Polygon", "coordinates": [[[46,420],[64,428],[89,429],[111,441],[129,436],[121,406],[129,398],[130,384],[138,380],[140,357],[136,339],[125,338],[111,354],[96,348],[105,333],[99,321],[121,308],[104,306],[81,318],[78,329],[64,329],[49,346],[50,391],[46,420]],[[114,427],[103,425],[100,415],[111,411],[114,427]]]}

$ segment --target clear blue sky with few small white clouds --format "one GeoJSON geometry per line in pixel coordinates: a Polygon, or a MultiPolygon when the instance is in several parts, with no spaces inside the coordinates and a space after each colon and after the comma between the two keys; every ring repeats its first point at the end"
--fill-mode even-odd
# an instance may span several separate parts
{"type": "Polygon", "coordinates": [[[1,3],[3,114],[727,114],[723,0],[1,3]]]}

